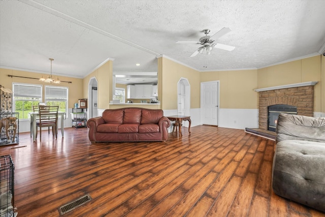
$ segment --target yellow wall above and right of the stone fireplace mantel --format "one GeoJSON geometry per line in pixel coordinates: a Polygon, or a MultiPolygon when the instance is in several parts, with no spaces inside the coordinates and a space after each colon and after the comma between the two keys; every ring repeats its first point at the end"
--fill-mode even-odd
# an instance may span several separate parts
{"type": "Polygon", "coordinates": [[[321,55],[291,61],[289,63],[279,64],[257,70],[257,88],[280,86],[286,84],[302,83],[307,81],[318,81],[314,86],[314,111],[324,111],[324,87],[322,76],[324,71],[321,69],[323,57],[321,55]]]}

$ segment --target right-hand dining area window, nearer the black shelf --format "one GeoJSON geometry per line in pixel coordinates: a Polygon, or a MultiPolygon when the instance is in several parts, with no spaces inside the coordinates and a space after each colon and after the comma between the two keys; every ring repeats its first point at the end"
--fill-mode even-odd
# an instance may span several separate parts
{"type": "Polygon", "coordinates": [[[68,112],[68,87],[45,85],[45,103],[48,106],[59,106],[59,111],[68,112]]]}

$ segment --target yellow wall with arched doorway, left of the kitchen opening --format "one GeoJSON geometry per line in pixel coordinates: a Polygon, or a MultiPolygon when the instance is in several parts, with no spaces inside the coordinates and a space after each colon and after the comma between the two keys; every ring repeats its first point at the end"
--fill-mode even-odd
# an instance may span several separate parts
{"type": "Polygon", "coordinates": [[[83,84],[85,86],[83,90],[83,97],[86,99],[88,98],[89,80],[93,77],[95,77],[98,81],[98,109],[108,109],[109,102],[113,100],[113,61],[107,61],[103,66],[94,70],[83,79],[83,84]]]}

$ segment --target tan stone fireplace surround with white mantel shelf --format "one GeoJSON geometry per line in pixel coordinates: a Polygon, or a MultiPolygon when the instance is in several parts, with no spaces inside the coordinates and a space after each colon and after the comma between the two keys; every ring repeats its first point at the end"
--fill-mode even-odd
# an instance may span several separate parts
{"type": "Polygon", "coordinates": [[[258,92],[258,129],[268,130],[268,107],[272,105],[294,106],[298,115],[313,116],[316,83],[311,81],[255,89],[258,92]]]}

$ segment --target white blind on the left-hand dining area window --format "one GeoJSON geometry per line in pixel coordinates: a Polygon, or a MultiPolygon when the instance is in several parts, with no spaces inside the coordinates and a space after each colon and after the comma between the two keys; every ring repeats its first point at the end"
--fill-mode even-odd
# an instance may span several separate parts
{"type": "Polygon", "coordinates": [[[42,99],[42,85],[13,83],[14,97],[42,99]]]}

